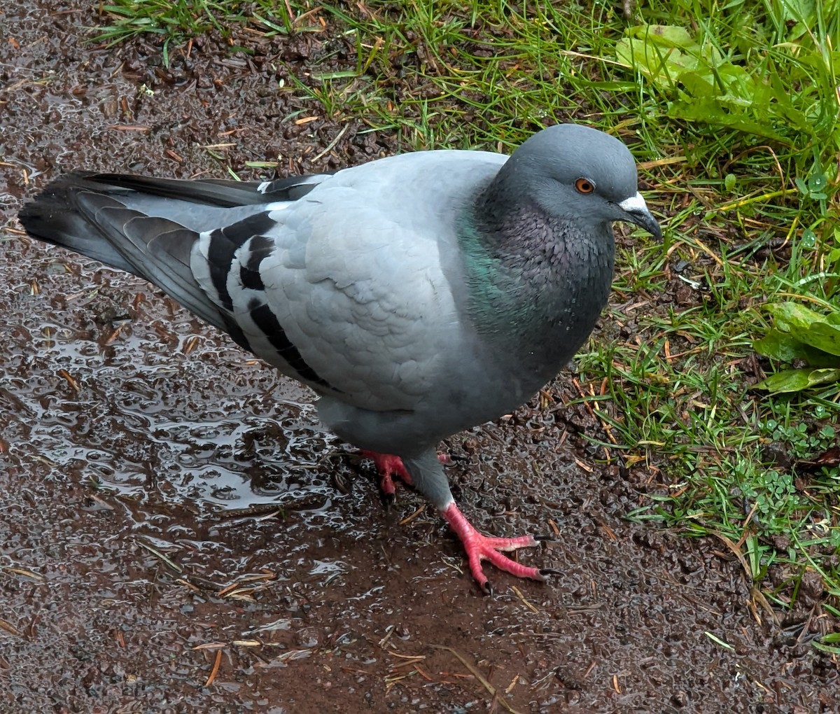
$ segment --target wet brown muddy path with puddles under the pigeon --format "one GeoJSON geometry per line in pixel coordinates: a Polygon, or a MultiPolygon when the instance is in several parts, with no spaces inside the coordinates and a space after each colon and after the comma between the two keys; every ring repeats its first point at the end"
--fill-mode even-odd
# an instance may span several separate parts
{"type": "Polygon", "coordinates": [[[142,281],[20,234],[20,203],[73,168],[253,178],[246,161],[396,150],[278,91],[328,56],[354,67],[343,40],[243,33],[246,57],[202,39],[166,70],[143,40],[84,45],[90,3],[11,5],[0,711],[840,711],[810,644],[819,587],[773,622],[721,543],[622,520],[648,479],[596,463],[570,374],[448,444],[480,529],[559,534],[522,558],[563,575],[493,572],[489,598],[419,496],[381,506],[302,388],[142,281]]]}

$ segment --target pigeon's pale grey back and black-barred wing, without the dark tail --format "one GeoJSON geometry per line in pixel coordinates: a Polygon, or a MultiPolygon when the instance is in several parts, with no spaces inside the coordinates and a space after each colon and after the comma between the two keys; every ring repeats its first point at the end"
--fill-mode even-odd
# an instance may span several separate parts
{"type": "Polygon", "coordinates": [[[503,160],[432,152],[339,171],[262,214],[265,229],[241,244],[223,278],[213,277],[225,264],[214,234],[202,234],[193,273],[270,364],[355,407],[412,410],[457,349],[441,249],[457,241],[454,220],[476,182],[503,160]]]}

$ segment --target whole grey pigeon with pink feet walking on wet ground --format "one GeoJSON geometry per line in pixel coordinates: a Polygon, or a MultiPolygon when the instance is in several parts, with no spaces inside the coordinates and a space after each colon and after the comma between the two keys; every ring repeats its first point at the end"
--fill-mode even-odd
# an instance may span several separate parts
{"type": "Polygon", "coordinates": [[[416,151],[331,174],[184,180],[78,171],[19,214],[27,233],[150,281],[318,395],[318,416],[442,514],[472,576],[541,536],[460,511],[438,444],[527,402],[591,333],[612,223],[662,238],[621,140],[550,126],[512,155],[416,151]]]}

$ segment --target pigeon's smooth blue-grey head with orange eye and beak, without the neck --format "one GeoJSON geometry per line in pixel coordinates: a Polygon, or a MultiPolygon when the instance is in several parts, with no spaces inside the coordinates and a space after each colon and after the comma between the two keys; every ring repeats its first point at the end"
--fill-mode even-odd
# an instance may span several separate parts
{"type": "Polygon", "coordinates": [[[514,196],[526,193],[549,216],[577,224],[587,234],[627,221],[662,238],[638,192],[633,155],[598,129],[578,124],[543,129],[513,153],[500,178],[514,196]]]}

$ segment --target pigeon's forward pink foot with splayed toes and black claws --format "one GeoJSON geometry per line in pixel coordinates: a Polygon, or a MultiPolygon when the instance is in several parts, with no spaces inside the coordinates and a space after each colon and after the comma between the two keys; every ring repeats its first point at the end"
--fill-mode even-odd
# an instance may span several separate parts
{"type": "Polygon", "coordinates": [[[487,594],[491,595],[493,589],[487,581],[484,570],[481,568],[482,560],[489,560],[499,570],[516,575],[517,578],[530,578],[531,580],[543,582],[545,580],[544,576],[553,572],[552,570],[528,568],[527,565],[519,564],[516,560],[512,560],[500,553],[500,551],[510,552],[520,548],[533,548],[533,546],[538,544],[537,538],[529,535],[519,536],[518,538],[491,538],[482,535],[475,530],[472,523],[466,519],[454,503],[446,507],[442,511],[442,514],[452,530],[458,534],[461,543],[464,543],[467,559],[470,562],[470,571],[481,590],[487,594]]]}

